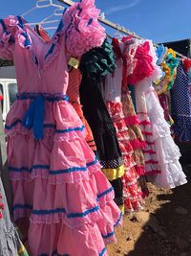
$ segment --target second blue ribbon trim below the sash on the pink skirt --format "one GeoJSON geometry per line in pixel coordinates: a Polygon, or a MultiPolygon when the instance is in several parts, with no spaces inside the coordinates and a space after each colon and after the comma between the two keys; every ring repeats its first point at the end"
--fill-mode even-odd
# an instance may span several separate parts
{"type": "MultiPolygon", "coordinates": [[[[84,172],[84,171],[88,171],[88,167],[92,166],[92,165],[96,165],[97,159],[93,162],[89,162],[86,164],[85,167],[72,167],[72,168],[68,168],[68,169],[64,169],[64,170],[57,170],[57,171],[49,171],[50,175],[60,175],[60,174],[69,174],[72,172],[84,172]]],[[[31,168],[28,167],[21,167],[21,168],[16,168],[16,167],[9,167],[9,171],[10,172],[15,172],[15,173],[19,173],[19,172],[27,172],[27,173],[32,173],[33,169],[45,169],[45,170],[50,170],[50,166],[49,165],[33,165],[31,168]]]]}

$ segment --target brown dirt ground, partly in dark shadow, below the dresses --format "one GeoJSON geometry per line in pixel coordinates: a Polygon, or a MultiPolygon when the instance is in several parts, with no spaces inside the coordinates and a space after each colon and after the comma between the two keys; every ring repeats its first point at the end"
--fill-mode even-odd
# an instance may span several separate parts
{"type": "Polygon", "coordinates": [[[126,215],[110,256],[191,256],[191,166],[188,183],[172,191],[149,184],[142,212],[126,215]]]}

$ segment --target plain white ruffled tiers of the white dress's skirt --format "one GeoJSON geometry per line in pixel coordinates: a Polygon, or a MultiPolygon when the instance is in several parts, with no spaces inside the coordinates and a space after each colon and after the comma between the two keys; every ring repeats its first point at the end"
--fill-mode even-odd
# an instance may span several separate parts
{"type": "Polygon", "coordinates": [[[180,150],[171,137],[170,127],[164,119],[163,109],[159,105],[155,90],[150,90],[145,98],[161,171],[154,177],[153,182],[159,187],[175,188],[187,182],[179,162],[180,150]]]}

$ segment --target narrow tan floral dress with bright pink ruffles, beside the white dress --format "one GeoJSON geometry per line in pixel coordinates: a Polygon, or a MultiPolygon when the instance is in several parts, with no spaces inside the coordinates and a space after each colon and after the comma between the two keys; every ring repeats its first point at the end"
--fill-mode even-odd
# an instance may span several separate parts
{"type": "Polygon", "coordinates": [[[134,58],[138,42],[132,36],[123,37],[121,40],[123,44],[123,51],[119,51],[119,41],[114,38],[113,46],[114,51],[117,55],[121,56],[123,59],[122,66],[122,84],[121,84],[121,104],[124,114],[124,121],[128,128],[128,133],[130,137],[130,144],[133,148],[134,159],[136,162],[136,171],[139,175],[138,182],[141,186],[142,197],[146,197],[149,194],[146,179],[145,179],[145,161],[142,150],[145,148],[145,141],[140,129],[140,122],[138,120],[138,115],[135,111],[135,106],[133,104],[132,95],[129,91],[128,76],[133,73],[136,67],[136,60],[134,58]]]}

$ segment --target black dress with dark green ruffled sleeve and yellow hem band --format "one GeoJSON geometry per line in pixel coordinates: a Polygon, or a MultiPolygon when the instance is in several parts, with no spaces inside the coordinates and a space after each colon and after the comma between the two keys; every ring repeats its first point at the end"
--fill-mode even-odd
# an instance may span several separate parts
{"type": "Polygon", "coordinates": [[[79,69],[82,74],[79,88],[82,110],[93,131],[102,172],[114,187],[115,201],[123,210],[123,160],[116,129],[102,97],[103,78],[115,69],[114,52],[107,40],[101,47],[92,49],[82,56],[79,69]]]}

